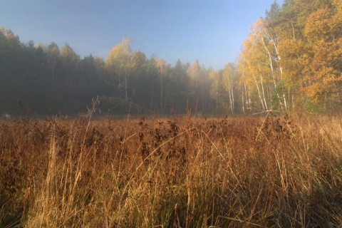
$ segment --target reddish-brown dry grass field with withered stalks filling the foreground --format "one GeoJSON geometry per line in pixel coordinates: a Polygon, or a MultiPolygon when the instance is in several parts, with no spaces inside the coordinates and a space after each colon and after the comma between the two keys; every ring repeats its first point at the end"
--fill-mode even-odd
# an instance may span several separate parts
{"type": "Polygon", "coordinates": [[[0,227],[342,227],[342,118],[0,122],[0,227]]]}

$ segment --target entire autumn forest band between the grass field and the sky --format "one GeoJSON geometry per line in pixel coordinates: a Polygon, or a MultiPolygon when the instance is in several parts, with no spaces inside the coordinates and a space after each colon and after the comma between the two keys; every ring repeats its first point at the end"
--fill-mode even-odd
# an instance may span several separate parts
{"type": "Polygon", "coordinates": [[[23,43],[0,28],[0,114],[86,113],[97,96],[104,114],[341,110],[341,0],[274,1],[239,61],[219,71],[199,61],[170,66],[131,44],[123,38],[105,60],[81,58],[69,44],[23,43]]]}

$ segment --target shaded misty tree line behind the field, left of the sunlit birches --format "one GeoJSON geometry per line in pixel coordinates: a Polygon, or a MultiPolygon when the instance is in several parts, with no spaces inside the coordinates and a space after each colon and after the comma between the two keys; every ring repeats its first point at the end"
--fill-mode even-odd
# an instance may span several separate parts
{"type": "Polygon", "coordinates": [[[198,61],[178,60],[170,66],[134,51],[131,44],[123,38],[106,60],[91,54],[81,58],[68,43],[61,48],[54,42],[22,43],[11,29],[0,28],[0,113],[86,113],[97,96],[98,108],[108,114],[224,112],[227,95],[212,93],[212,83],[223,71],[206,69],[198,61]]]}

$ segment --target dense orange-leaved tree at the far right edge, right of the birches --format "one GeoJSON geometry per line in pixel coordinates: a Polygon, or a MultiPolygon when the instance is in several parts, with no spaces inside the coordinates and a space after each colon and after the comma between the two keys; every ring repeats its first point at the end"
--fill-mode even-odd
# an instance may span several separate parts
{"type": "Polygon", "coordinates": [[[342,19],[339,10],[341,8],[338,9],[338,5],[330,9],[318,9],[309,16],[304,28],[312,53],[309,64],[311,85],[307,88],[307,95],[314,103],[321,101],[325,107],[328,103],[340,100],[342,77],[338,60],[342,58],[342,19]]]}

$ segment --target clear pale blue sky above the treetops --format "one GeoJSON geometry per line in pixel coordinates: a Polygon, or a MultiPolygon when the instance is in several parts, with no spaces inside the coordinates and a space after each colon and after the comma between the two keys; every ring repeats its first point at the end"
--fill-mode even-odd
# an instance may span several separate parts
{"type": "MultiPolygon", "coordinates": [[[[218,70],[236,62],[250,26],[274,0],[0,0],[0,26],[24,43],[103,59],[124,36],[133,49],[174,66],[198,60],[218,70]]],[[[281,6],[282,0],[277,1],[281,6]]]]}

